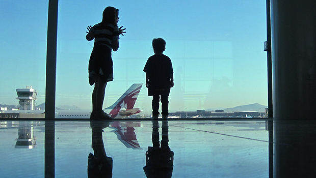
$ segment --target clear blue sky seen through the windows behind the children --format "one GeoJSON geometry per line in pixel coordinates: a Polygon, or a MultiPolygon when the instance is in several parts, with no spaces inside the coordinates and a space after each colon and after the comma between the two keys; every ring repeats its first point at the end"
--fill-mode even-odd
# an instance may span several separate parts
{"type": "MultiPolygon", "coordinates": [[[[36,104],[45,98],[48,1],[2,1],[0,57],[1,104],[16,104],[16,88],[32,85],[36,104]]],[[[267,105],[266,1],[60,1],[58,19],[56,104],[90,109],[93,87],[88,61],[93,42],[87,25],[101,21],[107,6],[119,9],[126,27],[120,48],[113,52],[114,81],[106,90],[110,106],[133,83],[144,83],[142,72],[153,54],[151,40],[164,38],[173,64],[175,86],[170,110],[184,111],[267,105]]],[[[137,107],[150,110],[143,86],[137,107]]]]}

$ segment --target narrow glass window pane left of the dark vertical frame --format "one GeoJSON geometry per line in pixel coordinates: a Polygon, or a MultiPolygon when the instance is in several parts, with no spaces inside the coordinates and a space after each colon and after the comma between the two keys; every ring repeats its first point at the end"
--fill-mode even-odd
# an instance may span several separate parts
{"type": "Polygon", "coordinates": [[[45,109],[48,1],[3,0],[0,6],[2,110],[24,109],[18,91],[29,96],[33,109],[45,109]]]}

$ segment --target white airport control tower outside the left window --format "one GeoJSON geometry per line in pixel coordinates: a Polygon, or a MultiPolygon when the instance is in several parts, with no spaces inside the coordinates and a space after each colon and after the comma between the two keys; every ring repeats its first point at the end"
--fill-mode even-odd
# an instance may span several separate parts
{"type": "Polygon", "coordinates": [[[32,86],[27,88],[17,88],[17,97],[19,100],[19,110],[34,110],[35,100],[37,100],[37,92],[32,86]]]}

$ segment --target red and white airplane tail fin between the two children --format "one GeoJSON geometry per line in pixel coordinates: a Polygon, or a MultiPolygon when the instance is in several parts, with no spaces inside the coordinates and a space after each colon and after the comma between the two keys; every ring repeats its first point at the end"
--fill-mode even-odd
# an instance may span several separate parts
{"type": "MultiPolygon", "coordinates": [[[[142,88],[142,83],[134,83],[131,85],[128,90],[110,107],[105,109],[111,109],[109,115],[115,118],[120,111],[131,110],[134,108],[139,92],[142,88]]],[[[135,112],[133,112],[134,114],[135,112]]],[[[139,113],[139,112],[136,112],[139,113]]],[[[125,114],[124,114],[125,115],[125,114]]]]}

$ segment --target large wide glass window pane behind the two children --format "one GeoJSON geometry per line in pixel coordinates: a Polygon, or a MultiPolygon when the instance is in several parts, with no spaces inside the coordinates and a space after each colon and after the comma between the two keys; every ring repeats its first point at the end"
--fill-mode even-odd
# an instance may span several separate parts
{"type": "Polygon", "coordinates": [[[223,116],[221,112],[233,117],[264,116],[268,96],[263,0],[61,1],[57,107],[92,109],[88,62],[93,42],[85,39],[86,27],[100,22],[107,6],[119,9],[118,26],[126,27],[127,33],[120,36],[120,47],[112,53],[114,80],[107,85],[103,108],[131,84],[143,83],[135,107],[142,109],[141,116],[151,114],[143,68],[154,54],[152,39],[161,37],[174,70],[169,112],[181,117],[201,117],[207,111],[217,111],[217,116],[223,116]]]}

